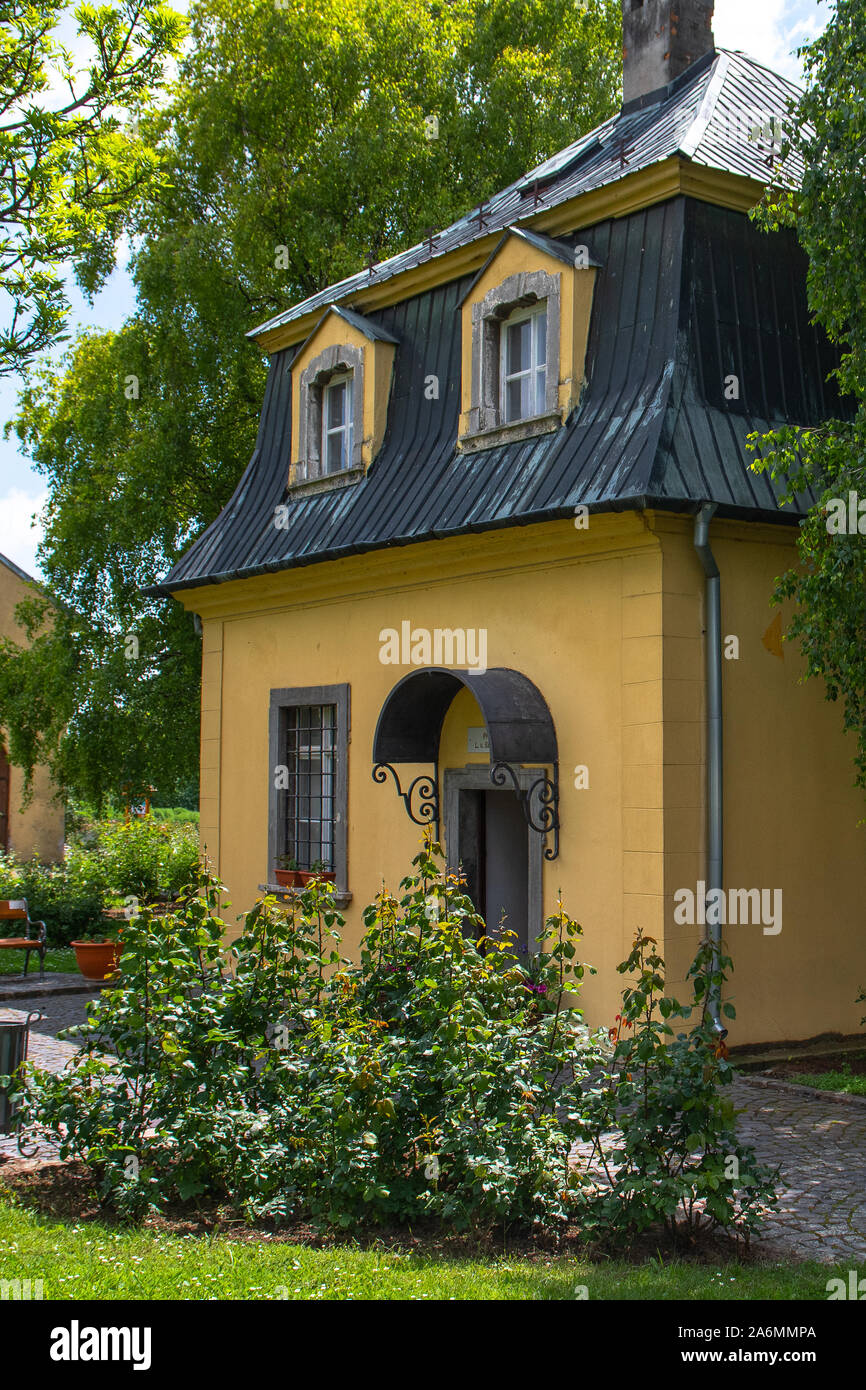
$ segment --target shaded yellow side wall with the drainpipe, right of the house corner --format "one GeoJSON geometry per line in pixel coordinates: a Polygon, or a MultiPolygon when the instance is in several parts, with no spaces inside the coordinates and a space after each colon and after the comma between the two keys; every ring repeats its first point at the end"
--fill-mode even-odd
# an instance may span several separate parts
{"type": "MultiPolygon", "coordinates": [[[[659,518],[664,556],[664,894],[671,979],[683,979],[698,929],[673,923],[673,892],[706,877],[703,840],[703,574],[692,524],[659,518]]],[[[853,787],[853,739],[822,681],[801,684],[796,645],[773,655],[762,637],[778,609],[774,580],[795,562],[791,531],[710,527],[721,573],[721,632],[740,638],[723,660],[724,884],[783,892],[783,927],[724,930],[734,960],[731,1040],[778,1041],[856,1033],[866,1012],[863,795],[853,787]]],[[[783,609],[788,626],[790,610],[783,609]]]]}

